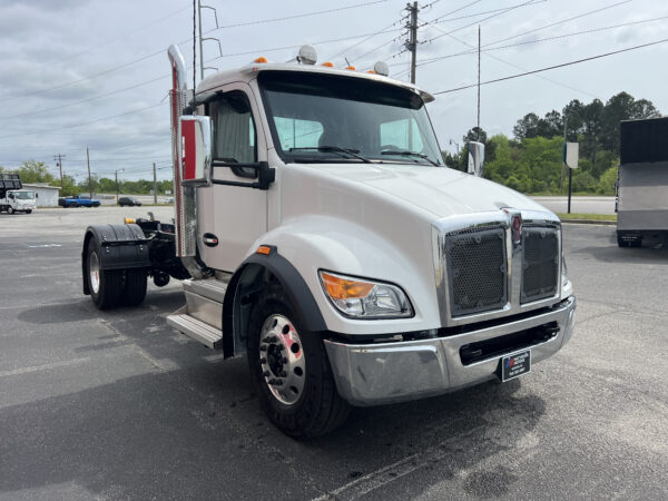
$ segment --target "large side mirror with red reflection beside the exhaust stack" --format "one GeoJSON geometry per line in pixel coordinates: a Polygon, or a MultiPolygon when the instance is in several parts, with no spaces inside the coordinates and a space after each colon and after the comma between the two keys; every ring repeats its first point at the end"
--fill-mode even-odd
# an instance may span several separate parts
{"type": "Polygon", "coordinates": [[[200,186],[209,184],[212,171],[213,128],[209,117],[184,115],[180,117],[181,184],[200,186]]]}

